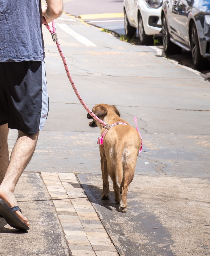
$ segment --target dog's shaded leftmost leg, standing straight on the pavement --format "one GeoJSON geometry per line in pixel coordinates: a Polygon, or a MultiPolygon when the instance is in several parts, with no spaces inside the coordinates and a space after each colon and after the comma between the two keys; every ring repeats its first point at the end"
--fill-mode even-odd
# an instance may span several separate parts
{"type": "Polygon", "coordinates": [[[109,174],[107,171],[107,159],[105,156],[101,156],[101,172],[103,179],[103,191],[101,199],[109,200],[109,174]]]}

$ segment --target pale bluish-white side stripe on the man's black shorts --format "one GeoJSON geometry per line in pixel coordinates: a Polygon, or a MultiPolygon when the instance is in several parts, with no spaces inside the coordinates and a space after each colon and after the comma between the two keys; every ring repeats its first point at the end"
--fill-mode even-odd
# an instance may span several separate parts
{"type": "Polygon", "coordinates": [[[39,131],[41,131],[44,127],[44,124],[47,119],[48,110],[49,110],[49,100],[48,100],[48,93],[47,93],[47,81],[46,81],[44,60],[42,61],[41,65],[42,65],[42,104],[41,104],[41,118],[39,123],[39,131]]]}

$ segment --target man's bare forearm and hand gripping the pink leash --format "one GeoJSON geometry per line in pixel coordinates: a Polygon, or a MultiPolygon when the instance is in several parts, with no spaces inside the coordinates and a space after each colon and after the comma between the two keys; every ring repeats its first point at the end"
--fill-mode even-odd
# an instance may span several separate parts
{"type": "Polygon", "coordinates": [[[63,12],[63,1],[62,0],[45,0],[46,6],[42,6],[42,16],[45,17],[47,23],[51,20],[57,19],[63,12]]]}

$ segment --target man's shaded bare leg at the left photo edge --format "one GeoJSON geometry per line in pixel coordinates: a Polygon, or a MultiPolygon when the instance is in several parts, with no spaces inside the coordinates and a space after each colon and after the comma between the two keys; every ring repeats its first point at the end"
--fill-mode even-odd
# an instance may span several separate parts
{"type": "Polygon", "coordinates": [[[9,150],[7,144],[8,133],[8,123],[0,125],[0,184],[4,179],[9,164],[9,150]]]}

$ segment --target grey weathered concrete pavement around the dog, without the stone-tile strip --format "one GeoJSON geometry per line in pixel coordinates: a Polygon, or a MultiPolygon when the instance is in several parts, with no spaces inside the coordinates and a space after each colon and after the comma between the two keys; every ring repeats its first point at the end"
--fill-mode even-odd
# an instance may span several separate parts
{"type": "MultiPolygon", "coordinates": [[[[131,125],[137,116],[143,152],[129,187],[128,212],[120,213],[113,191],[110,201],[100,199],[99,130],[88,126],[87,114],[70,87],[55,43],[43,28],[50,112],[16,189],[31,228],[23,237],[3,228],[2,223],[0,255],[9,255],[10,247],[14,248],[11,255],[72,253],[40,172],[76,174],[120,255],[208,254],[209,82],[159,57],[148,46],[127,44],[67,15],[57,23],[67,24],[96,45],[87,47],[57,26],[84,101],[90,108],[98,103],[115,104],[131,125]],[[31,243],[29,249],[22,246],[20,252],[23,238],[24,245],[32,238],[41,242],[31,243]]],[[[16,132],[10,131],[10,149],[15,138],[16,132]]]]}

